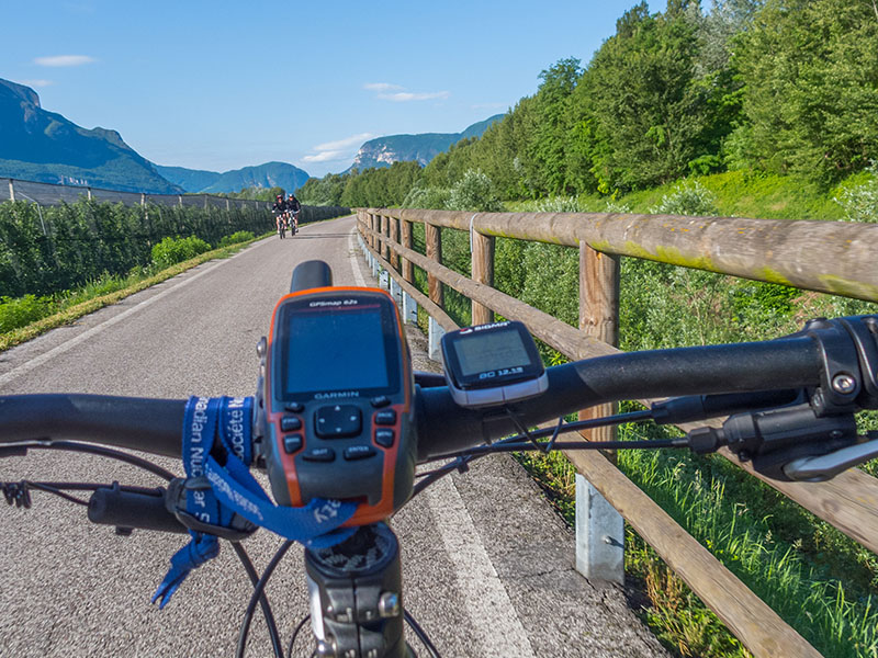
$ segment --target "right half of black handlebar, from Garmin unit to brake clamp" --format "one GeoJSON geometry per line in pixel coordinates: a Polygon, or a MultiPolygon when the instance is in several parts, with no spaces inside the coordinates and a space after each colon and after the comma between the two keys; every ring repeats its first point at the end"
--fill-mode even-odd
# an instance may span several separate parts
{"type": "MultiPolygon", "coordinates": [[[[820,359],[811,339],[789,338],[624,352],[558,365],[545,372],[545,394],[513,406],[526,427],[623,399],[817,386],[820,359]]],[[[506,413],[462,409],[447,387],[420,389],[417,399],[418,461],[516,431],[515,421],[506,413]]]]}

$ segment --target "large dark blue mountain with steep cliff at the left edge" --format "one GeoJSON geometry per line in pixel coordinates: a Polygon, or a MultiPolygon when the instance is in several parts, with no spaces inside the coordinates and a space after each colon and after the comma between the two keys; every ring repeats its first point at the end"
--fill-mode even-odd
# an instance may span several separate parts
{"type": "Polygon", "coordinates": [[[30,87],[0,79],[0,177],[90,185],[125,192],[175,194],[115,131],[87,129],[47,112],[30,87]]]}

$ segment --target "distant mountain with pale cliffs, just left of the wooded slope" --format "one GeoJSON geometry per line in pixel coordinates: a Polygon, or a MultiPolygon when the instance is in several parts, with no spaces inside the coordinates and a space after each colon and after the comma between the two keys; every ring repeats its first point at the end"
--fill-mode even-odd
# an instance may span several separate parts
{"type": "Polygon", "coordinates": [[[419,135],[389,135],[370,139],[360,147],[350,169],[390,167],[393,162],[417,160],[421,167],[461,139],[481,137],[487,127],[504,114],[480,121],[462,133],[421,133],[419,135]]]}

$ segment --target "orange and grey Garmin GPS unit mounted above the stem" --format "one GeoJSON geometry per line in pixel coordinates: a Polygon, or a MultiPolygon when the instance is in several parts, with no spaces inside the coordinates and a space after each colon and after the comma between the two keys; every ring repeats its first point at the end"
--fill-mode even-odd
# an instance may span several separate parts
{"type": "Polygon", "coordinates": [[[266,352],[263,452],[274,499],[360,502],[345,525],[386,519],[412,495],[414,381],[399,314],[375,288],[281,298],[266,352]]]}

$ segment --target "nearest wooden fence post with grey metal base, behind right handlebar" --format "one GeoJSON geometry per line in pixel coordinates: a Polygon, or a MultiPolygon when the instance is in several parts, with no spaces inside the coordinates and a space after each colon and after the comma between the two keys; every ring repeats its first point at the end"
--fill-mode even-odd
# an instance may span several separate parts
{"type": "MultiPolygon", "coordinates": [[[[619,343],[619,257],[579,245],[579,329],[619,343]]],[[[579,411],[579,419],[614,413],[616,405],[579,411]]],[[[612,441],[616,429],[581,432],[586,441],[612,441]]],[[[615,463],[616,455],[607,454],[615,463]]],[[[576,475],[576,569],[586,578],[624,582],[624,520],[582,475],[576,475]]]]}

